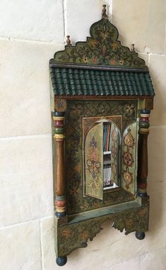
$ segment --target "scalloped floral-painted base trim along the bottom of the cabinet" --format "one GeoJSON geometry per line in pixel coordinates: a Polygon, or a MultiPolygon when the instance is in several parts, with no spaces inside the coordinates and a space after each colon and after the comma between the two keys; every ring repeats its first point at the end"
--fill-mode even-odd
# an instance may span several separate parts
{"type": "Polygon", "coordinates": [[[114,222],[114,228],[120,232],[125,230],[125,235],[130,232],[146,232],[148,230],[148,212],[149,205],[147,204],[131,210],[83,220],[79,223],[60,225],[57,235],[57,257],[66,256],[73,249],[87,247],[88,239],[93,240],[93,237],[102,230],[101,225],[107,218],[114,222]]]}

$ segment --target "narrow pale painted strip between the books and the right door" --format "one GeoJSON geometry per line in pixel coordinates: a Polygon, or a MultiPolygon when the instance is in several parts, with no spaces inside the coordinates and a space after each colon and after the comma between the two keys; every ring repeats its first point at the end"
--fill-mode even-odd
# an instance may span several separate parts
{"type": "Polygon", "coordinates": [[[113,123],[111,125],[110,140],[111,140],[111,169],[112,169],[111,181],[118,185],[119,130],[117,126],[114,125],[113,123]]]}

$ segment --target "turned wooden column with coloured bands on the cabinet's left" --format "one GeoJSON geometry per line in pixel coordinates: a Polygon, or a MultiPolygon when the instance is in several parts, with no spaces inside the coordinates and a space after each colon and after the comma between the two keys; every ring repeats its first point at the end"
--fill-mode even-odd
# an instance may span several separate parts
{"type": "Polygon", "coordinates": [[[64,112],[53,113],[54,120],[54,206],[57,218],[66,215],[66,172],[65,172],[65,135],[64,135],[64,112]]]}

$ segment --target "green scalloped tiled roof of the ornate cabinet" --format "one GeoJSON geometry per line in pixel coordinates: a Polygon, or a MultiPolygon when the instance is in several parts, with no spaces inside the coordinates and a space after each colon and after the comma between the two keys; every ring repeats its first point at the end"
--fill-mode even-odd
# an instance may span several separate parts
{"type": "Polygon", "coordinates": [[[52,67],[58,96],[154,96],[149,72],[52,67]]]}

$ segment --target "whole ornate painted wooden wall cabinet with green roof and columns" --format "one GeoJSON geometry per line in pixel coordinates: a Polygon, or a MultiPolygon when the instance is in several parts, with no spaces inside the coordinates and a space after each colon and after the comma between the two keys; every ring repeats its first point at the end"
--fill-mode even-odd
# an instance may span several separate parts
{"type": "Polygon", "coordinates": [[[57,264],[86,247],[108,218],[142,240],[148,230],[148,67],[102,19],[50,60],[57,264]]]}

